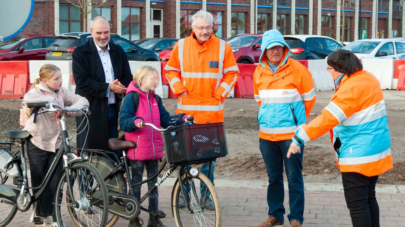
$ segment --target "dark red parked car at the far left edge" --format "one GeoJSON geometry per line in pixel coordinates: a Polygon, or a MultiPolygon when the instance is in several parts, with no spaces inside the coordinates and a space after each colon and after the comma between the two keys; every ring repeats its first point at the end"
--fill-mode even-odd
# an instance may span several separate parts
{"type": "Polygon", "coordinates": [[[45,60],[55,35],[16,35],[0,42],[0,60],[45,60]]]}

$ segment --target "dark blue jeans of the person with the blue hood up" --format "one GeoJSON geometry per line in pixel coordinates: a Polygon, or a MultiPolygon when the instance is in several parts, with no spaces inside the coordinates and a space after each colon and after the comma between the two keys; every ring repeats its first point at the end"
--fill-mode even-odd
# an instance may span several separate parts
{"type": "Polygon", "coordinates": [[[288,221],[297,220],[301,224],[304,221],[304,181],[302,176],[302,163],[304,148],[301,153],[293,154],[287,158],[287,151],[292,140],[269,141],[260,138],[260,152],[266,165],[269,186],[267,187],[267,204],[269,215],[278,221],[284,222],[284,183],[283,161],[288,180],[288,196],[290,198],[290,214],[288,221]]]}

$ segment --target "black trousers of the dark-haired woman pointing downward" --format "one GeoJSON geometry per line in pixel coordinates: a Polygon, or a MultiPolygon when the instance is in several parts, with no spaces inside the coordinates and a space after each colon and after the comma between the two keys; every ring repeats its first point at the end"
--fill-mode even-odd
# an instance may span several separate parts
{"type": "Polygon", "coordinates": [[[379,207],[375,198],[378,175],[342,173],[343,190],[353,227],[379,227],[379,207]]]}

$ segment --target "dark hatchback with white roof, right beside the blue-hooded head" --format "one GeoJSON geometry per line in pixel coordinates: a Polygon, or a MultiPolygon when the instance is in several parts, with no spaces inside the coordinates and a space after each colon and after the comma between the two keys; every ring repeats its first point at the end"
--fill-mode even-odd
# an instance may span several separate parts
{"type": "Polygon", "coordinates": [[[343,48],[336,40],[322,35],[284,35],[294,60],[325,59],[330,53],[343,48]]]}

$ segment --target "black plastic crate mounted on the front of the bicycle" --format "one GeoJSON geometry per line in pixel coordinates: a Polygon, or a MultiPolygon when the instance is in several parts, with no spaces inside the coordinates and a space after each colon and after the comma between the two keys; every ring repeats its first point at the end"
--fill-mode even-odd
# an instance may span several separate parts
{"type": "Polygon", "coordinates": [[[224,123],[179,125],[164,131],[163,138],[171,165],[198,164],[228,154],[224,123]]]}

